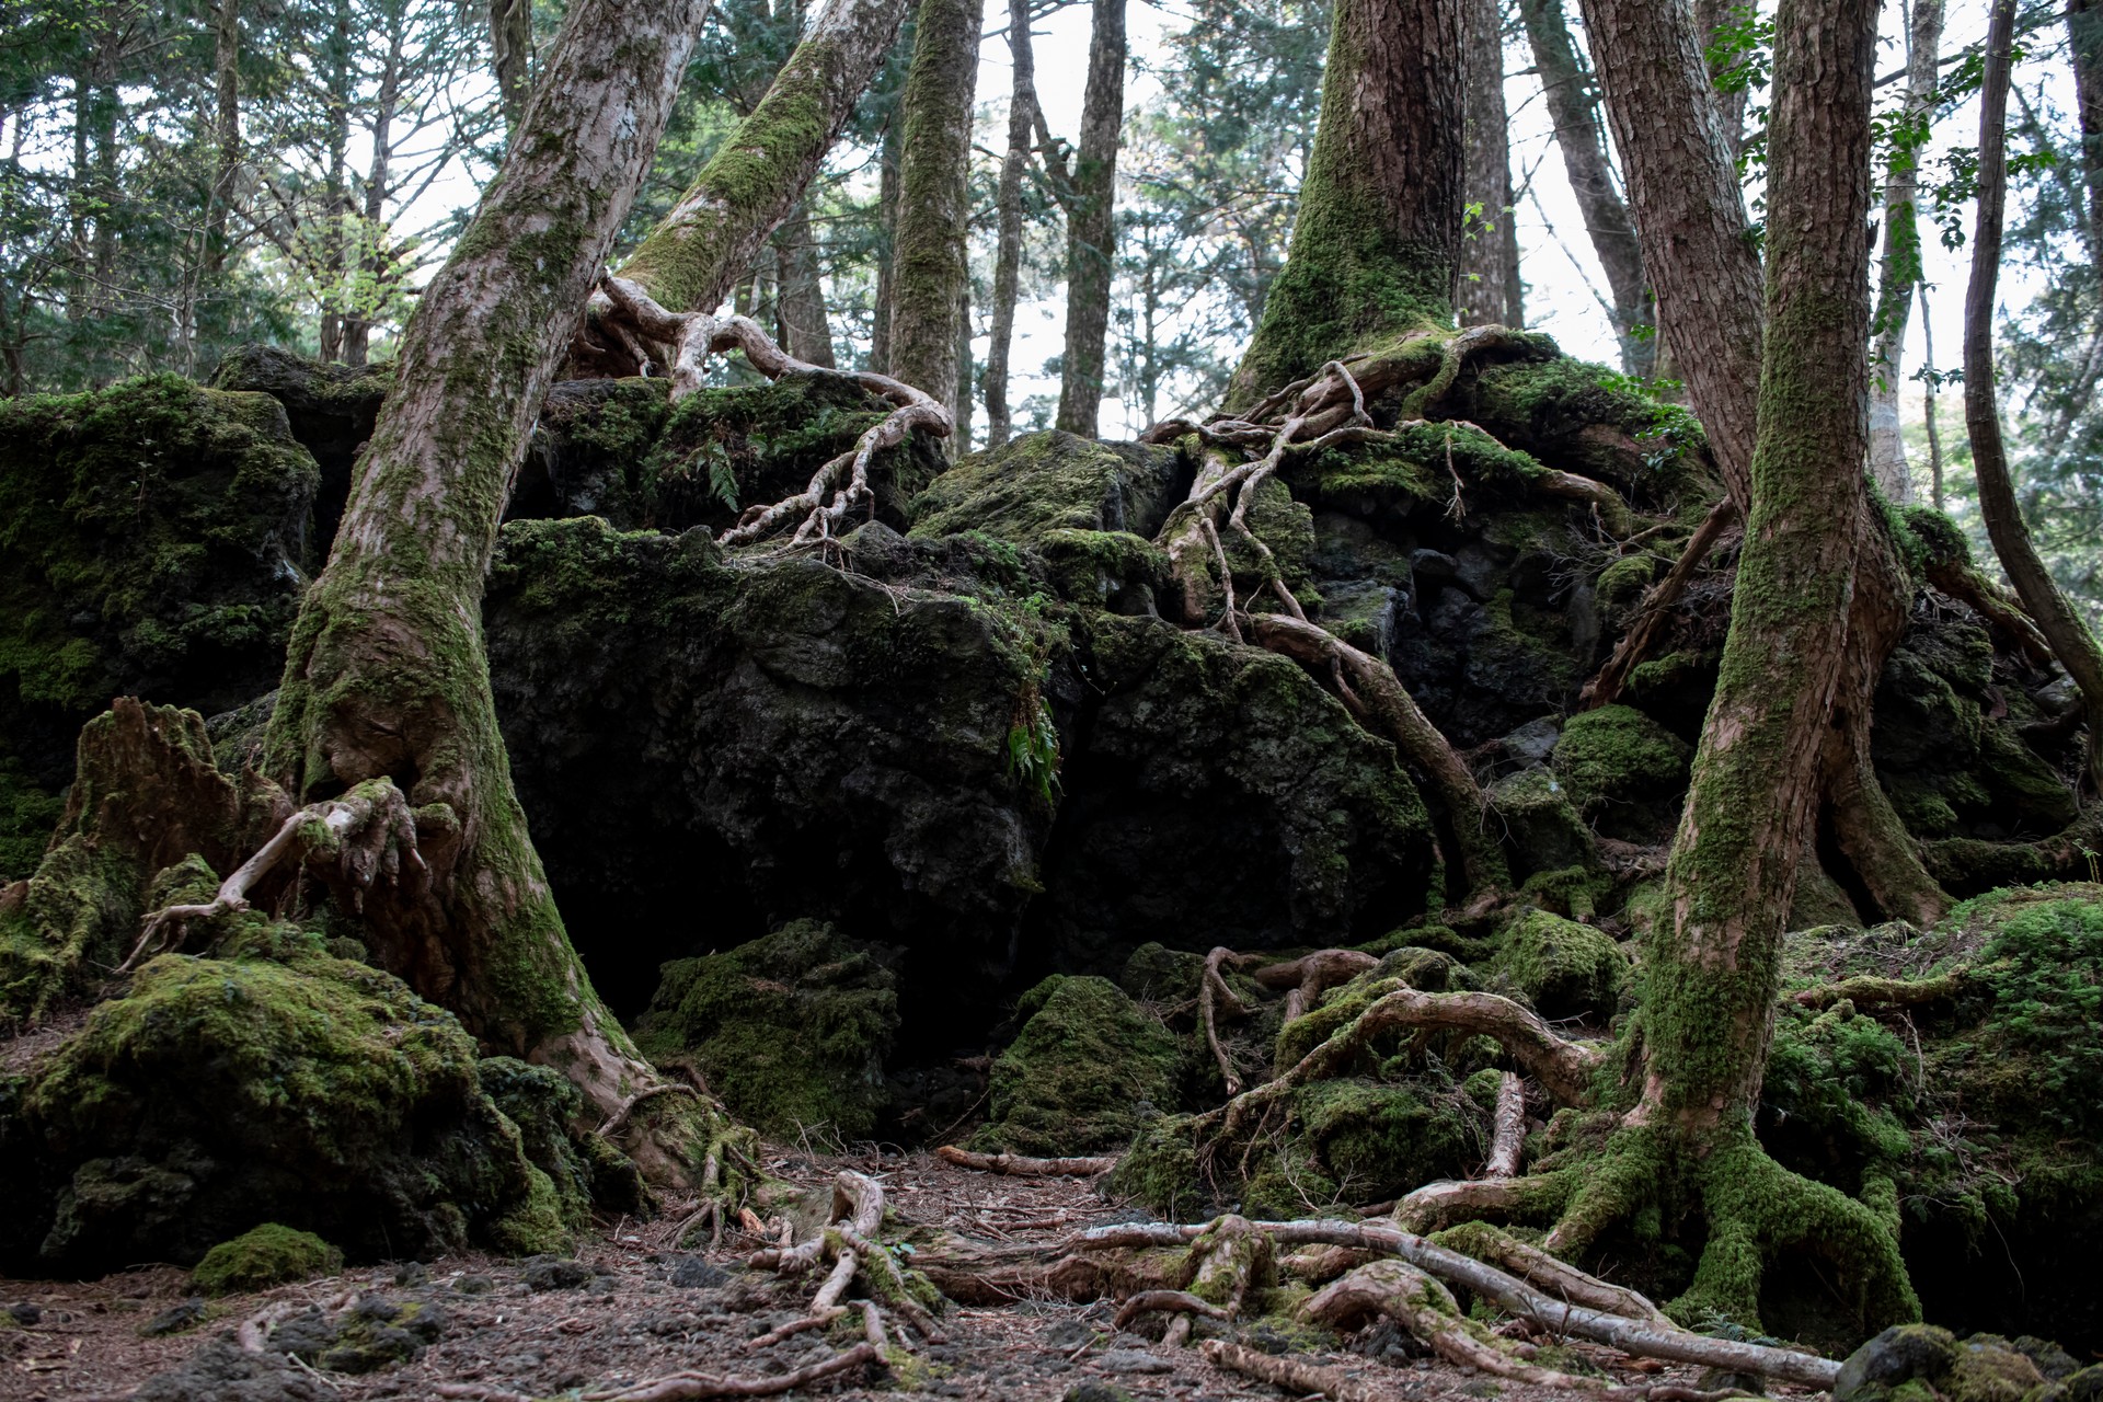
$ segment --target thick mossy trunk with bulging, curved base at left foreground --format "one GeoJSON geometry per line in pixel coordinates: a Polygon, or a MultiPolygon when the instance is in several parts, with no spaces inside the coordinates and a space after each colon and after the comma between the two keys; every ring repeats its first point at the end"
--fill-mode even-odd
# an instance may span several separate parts
{"type": "Polygon", "coordinates": [[[671,116],[707,0],[572,0],[522,139],[402,338],[265,769],[301,799],[387,778],[421,874],[364,900],[381,963],[486,1047],[559,1068],[595,1112],[650,1078],[570,948],[511,786],[482,584],[511,477],[671,116]]]}

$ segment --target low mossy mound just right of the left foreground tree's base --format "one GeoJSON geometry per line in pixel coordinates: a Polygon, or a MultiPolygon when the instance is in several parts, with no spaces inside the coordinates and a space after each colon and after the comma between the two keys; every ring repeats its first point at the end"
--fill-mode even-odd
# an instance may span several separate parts
{"type": "Polygon", "coordinates": [[[885,1106],[896,984],[831,925],[793,921],[723,954],[665,965],[635,1038],[658,1061],[692,1059],[761,1133],[862,1137],[885,1106]]]}

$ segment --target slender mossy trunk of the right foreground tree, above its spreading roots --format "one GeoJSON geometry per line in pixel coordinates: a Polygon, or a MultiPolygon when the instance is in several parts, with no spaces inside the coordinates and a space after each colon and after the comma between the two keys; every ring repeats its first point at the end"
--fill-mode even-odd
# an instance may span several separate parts
{"type": "Polygon", "coordinates": [[[1666,868],[1670,919],[1647,954],[1645,1089],[1632,1120],[1680,1133],[1741,1127],[1758,1104],[1781,929],[1846,658],[1863,500],[1853,465],[1867,452],[1874,44],[1874,0],[1783,0],[1752,509],[1666,868]]]}

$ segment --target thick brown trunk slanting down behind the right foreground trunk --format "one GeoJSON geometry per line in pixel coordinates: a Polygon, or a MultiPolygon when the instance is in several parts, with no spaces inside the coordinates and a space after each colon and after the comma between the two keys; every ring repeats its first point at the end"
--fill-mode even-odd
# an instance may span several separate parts
{"type": "Polygon", "coordinates": [[[1584,23],[1657,328],[1743,504],[1760,383],[1760,254],[1701,40],[1687,0],[1584,0],[1584,23]]]}

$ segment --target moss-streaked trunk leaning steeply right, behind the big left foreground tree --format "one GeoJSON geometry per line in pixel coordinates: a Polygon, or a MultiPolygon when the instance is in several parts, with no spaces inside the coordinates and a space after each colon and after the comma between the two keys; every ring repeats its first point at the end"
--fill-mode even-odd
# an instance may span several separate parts
{"type": "Polygon", "coordinates": [[[753,116],[620,267],[667,311],[715,311],[789,217],[890,53],[904,0],[829,0],[753,116]]]}

